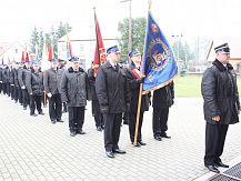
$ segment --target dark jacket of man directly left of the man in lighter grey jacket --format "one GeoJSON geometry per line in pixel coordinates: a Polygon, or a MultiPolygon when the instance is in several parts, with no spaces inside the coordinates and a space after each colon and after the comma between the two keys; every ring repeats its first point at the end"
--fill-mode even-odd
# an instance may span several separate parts
{"type": "Polygon", "coordinates": [[[43,76],[42,72],[31,70],[26,77],[26,87],[28,92],[33,95],[41,95],[43,92],[43,76]]]}

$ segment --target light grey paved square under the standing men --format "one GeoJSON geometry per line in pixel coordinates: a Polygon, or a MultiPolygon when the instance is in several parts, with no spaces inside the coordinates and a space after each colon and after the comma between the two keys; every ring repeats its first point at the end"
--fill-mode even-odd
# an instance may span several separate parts
{"type": "MultiPolygon", "coordinates": [[[[207,172],[203,167],[204,125],[202,99],[175,99],[170,109],[170,140],[152,137],[152,109],[144,114],[143,141],[130,143],[128,125],[122,125],[120,148],[124,155],[108,159],[103,133],[98,132],[86,111],[86,135],[71,138],[68,114],[63,123],[51,124],[44,115],[30,117],[6,95],[0,94],[0,180],[120,180],[187,181],[207,172]]],[[[230,162],[241,154],[241,124],[230,125],[222,155],[230,162]]]]}

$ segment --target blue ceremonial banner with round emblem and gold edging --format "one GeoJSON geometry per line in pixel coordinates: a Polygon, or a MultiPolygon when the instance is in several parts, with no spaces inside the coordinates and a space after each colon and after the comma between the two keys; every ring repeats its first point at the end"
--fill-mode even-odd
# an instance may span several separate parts
{"type": "Polygon", "coordinates": [[[178,74],[173,51],[150,10],[148,12],[142,72],[145,76],[143,94],[164,87],[178,74]]]}

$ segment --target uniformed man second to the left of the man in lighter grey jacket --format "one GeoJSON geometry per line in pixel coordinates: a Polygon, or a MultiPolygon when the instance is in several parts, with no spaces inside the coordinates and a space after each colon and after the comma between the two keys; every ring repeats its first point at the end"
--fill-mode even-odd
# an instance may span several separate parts
{"type": "Polygon", "coordinates": [[[22,91],[22,105],[23,110],[27,110],[27,107],[29,104],[29,93],[26,88],[26,77],[27,74],[31,71],[30,70],[31,63],[29,60],[24,62],[23,68],[19,69],[18,71],[18,80],[19,80],[19,86],[22,91]]]}

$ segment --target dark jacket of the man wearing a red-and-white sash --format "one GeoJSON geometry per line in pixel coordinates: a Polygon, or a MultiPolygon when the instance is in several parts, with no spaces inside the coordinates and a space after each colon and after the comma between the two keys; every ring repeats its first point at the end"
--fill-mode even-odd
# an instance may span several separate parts
{"type": "MultiPolygon", "coordinates": [[[[139,92],[140,92],[140,83],[137,82],[138,78],[132,72],[132,70],[135,69],[135,66],[130,64],[129,68],[125,69],[127,78],[130,86],[130,112],[137,112],[138,110],[138,101],[139,101],[139,92]]],[[[149,94],[143,94],[141,99],[141,111],[148,111],[149,110],[149,102],[150,97],[149,94]]]]}

